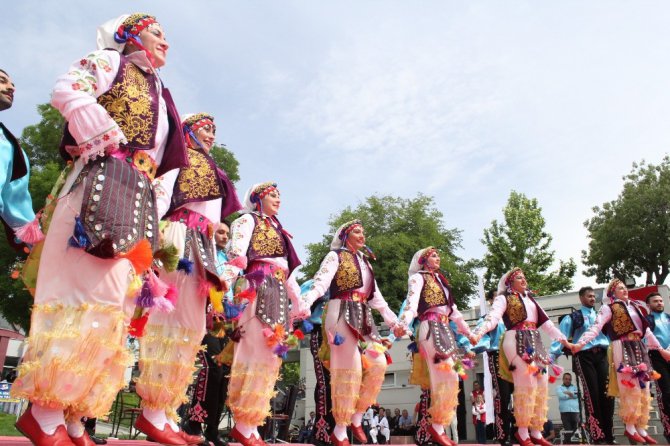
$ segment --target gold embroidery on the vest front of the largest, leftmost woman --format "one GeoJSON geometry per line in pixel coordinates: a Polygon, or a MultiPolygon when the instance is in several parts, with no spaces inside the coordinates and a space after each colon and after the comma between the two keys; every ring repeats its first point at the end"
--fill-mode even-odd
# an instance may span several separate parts
{"type": "Polygon", "coordinates": [[[119,124],[128,141],[148,146],[151,143],[151,94],[149,82],[137,66],[127,63],[121,82],[98,98],[109,115],[119,124]]]}

